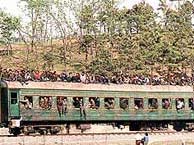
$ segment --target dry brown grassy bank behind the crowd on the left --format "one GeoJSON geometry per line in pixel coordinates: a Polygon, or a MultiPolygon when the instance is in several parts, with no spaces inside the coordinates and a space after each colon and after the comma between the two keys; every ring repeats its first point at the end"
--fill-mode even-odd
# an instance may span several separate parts
{"type": "MultiPolygon", "coordinates": [[[[0,57],[0,66],[3,68],[12,68],[12,69],[39,69],[39,70],[56,70],[56,71],[80,71],[82,63],[84,63],[85,55],[79,54],[78,50],[72,48],[72,50],[67,51],[67,61],[64,65],[61,56],[61,44],[54,44],[54,48],[50,46],[37,47],[36,50],[29,53],[27,61],[27,48],[24,44],[14,44],[13,54],[10,56],[1,56],[0,57]],[[73,52],[72,52],[73,51],[73,52]],[[44,59],[44,55],[50,54],[52,56],[51,61],[44,59]],[[53,65],[53,68],[51,67],[53,65]]],[[[1,46],[4,47],[4,46],[1,46]]]]}

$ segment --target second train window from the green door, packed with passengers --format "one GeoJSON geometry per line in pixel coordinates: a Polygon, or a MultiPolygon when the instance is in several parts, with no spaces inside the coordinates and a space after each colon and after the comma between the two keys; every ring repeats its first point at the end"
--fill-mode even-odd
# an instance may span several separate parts
{"type": "Polygon", "coordinates": [[[39,97],[39,106],[42,109],[50,110],[52,107],[52,97],[50,96],[40,96],[39,97]]]}

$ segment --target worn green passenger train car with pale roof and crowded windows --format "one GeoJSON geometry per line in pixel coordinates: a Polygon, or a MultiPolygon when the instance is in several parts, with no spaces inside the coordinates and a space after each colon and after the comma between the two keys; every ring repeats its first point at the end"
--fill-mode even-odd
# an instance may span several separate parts
{"type": "MultiPolygon", "coordinates": [[[[10,133],[56,134],[71,124],[114,123],[130,130],[194,129],[191,86],[0,82],[0,124],[10,133]]],[[[83,125],[83,126],[84,126],[83,125]]],[[[86,127],[87,128],[87,127],[86,127]]]]}

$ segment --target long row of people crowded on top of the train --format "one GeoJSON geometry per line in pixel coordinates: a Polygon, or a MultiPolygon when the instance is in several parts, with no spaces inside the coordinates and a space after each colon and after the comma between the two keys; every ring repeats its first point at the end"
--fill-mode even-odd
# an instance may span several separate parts
{"type": "Polygon", "coordinates": [[[101,84],[136,84],[136,85],[192,85],[194,77],[185,72],[171,73],[168,75],[142,75],[114,73],[112,76],[104,74],[94,75],[88,72],[72,73],[63,71],[39,71],[39,70],[17,70],[0,68],[0,78],[6,81],[19,81],[28,84],[28,81],[62,81],[81,83],[101,83],[101,84]]]}

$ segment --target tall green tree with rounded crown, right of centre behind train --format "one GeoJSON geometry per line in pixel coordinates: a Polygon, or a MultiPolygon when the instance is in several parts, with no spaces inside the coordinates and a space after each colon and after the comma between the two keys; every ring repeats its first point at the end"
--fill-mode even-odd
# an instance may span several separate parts
{"type": "Polygon", "coordinates": [[[160,25],[157,15],[147,3],[141,2],[126,13],[127,30],[131,39],[128,52],[131,54],[131,67],[135,70],[149,70],[157,62],[157,43],[160,25]]]}

